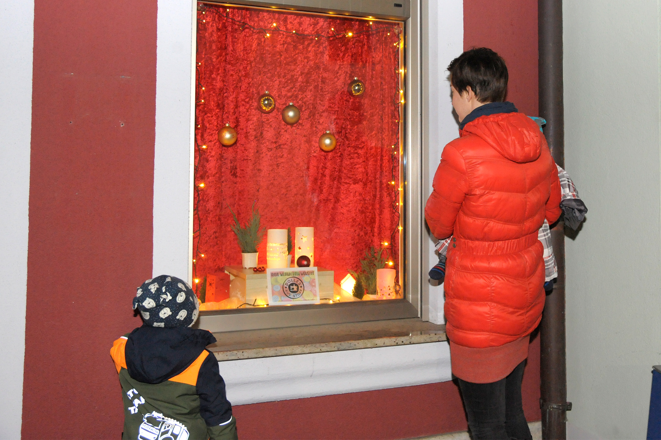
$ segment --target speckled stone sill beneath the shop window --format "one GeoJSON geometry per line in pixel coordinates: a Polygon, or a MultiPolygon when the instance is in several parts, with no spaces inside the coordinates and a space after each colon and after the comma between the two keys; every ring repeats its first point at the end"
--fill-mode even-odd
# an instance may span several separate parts
{"type": "Polygon", "coordinates": [[[446,326],[418,318],[214,333],[218,361],[446,341],[446,326]]]}

